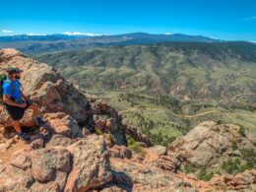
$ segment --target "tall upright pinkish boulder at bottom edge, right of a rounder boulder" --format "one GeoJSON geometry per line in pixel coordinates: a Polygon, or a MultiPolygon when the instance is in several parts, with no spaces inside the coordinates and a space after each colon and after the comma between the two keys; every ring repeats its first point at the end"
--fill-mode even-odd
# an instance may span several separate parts
{"type": "Polygon", "coordinates": [[[73,168],[65,191],[87,191],[112,180],[108,152],[102,138],[89,137],[67,149],[73,157],[73,168]]]}

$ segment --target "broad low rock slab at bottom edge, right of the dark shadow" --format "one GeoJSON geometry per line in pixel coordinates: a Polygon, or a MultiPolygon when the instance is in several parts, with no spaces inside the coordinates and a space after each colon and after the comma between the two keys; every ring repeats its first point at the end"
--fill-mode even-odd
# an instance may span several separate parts
{"type": "MultiPolygon", "coordinates": [[[[173,172],[153,166],[145,161],[110,158],[114,183],[126,191],[196,191],[173,172]]],[[[113,188],[113,187],[112,187],[113,188]]]]}

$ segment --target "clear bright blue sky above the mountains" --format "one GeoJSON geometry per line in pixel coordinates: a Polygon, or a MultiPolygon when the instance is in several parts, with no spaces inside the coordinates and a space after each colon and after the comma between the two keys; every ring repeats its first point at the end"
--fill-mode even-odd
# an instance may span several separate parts
{"type": "Polygon", "coordinates": [[[0,0],[0,35],[181,32],[256,41],[256,0],[0,0]]]}

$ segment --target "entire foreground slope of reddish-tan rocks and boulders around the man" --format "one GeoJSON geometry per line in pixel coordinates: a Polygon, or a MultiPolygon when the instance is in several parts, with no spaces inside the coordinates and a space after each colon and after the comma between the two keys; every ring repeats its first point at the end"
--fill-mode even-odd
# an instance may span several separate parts
{"type": "Polygon", "coordinates": [[[46,140],[19,140],[1,106],[0,191],[255,190],[253,168],[235,176],[215,175],[209,182],[182,172],[187,161],[195,166],[220,163],[229,156],[232,142],[238,149],[255,151],[255,137],[246,131],[239,135],[237,126],[205,122],[169,148],[150,147],[151,141],[122,122],[114,108],[82,94],[54,69],[15,49],[0,50],[0,73],[9,65],[24,69],[24,91],[47,119],[38,128],[28,111],[23,128],[32,135],[45,134],[46,140]],[[127,136],[144,147],[131,151],[127,136]]]}

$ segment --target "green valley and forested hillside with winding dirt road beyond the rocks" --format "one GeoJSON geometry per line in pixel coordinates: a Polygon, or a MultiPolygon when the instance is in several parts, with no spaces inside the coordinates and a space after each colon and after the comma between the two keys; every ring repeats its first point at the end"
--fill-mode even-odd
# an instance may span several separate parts
{"type": "Polygon", "coordinates": [[[106,99],[156,144],[207,120],[256,133],[256,44],[172,42],[34,57],[106,99]]]}

